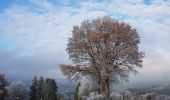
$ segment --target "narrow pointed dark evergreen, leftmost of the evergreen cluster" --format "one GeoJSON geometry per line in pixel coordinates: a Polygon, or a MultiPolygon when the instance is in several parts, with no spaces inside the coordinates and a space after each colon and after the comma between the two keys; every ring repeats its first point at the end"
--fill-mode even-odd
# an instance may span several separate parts
{"type": "Polygon", "coordinates": [[[37,77],[34,76],[32,85],[30,87],[30,100],[38,100],[38,98],[37,98],[37,84],[38,84],[37,77]]]}

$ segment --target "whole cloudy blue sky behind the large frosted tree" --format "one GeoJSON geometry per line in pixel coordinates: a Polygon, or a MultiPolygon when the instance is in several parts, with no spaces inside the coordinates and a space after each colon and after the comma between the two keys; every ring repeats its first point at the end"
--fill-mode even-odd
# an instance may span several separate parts
{"type": "Polygon", "coordinates": [[[65,48],[72,27],[109,15],[141,36],[146,57],[132,82],[162,80],[170,75],[169,11],[169,0],[0,0],[0,72],[64,78],[58,65],[70,63],[65,48]]]}

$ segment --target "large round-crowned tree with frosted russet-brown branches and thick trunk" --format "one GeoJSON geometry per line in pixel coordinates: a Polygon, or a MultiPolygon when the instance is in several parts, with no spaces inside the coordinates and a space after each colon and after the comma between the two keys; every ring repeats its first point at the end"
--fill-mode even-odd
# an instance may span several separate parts
{"type": "Polygon", "coordinates": [[[99,84],[99,92],[109,96],[113,79],[128,80],[130,72],[142,67],[144,53],[139,51],[140,37],[128,23],[109,16],[86,20],[74,26],[67,52],[72,65],[60,65],[61,71],[72,79],[91,76],[99,84]]]}

